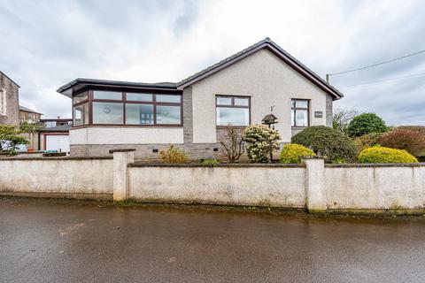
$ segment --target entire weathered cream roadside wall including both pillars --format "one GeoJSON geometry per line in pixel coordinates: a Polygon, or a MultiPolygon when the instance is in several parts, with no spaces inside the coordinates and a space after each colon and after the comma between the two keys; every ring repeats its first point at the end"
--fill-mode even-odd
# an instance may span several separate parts
{"type": "Polygon", "coordinates": [[[141,164],[135,149],[112,153],[1,159],[0,195],[425,213],[425,164],[141,164]]]}

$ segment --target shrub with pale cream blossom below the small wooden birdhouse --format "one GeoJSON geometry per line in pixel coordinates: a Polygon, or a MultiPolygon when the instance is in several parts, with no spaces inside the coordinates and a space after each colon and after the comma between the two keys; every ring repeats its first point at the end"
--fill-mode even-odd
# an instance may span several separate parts
{"type": "Polygon", "coordinates": [[[246,153],[253,162],[271,162],[270,153],[279,149],[279,132],[264,125],[247,126],[243,131],[246,153]]]}

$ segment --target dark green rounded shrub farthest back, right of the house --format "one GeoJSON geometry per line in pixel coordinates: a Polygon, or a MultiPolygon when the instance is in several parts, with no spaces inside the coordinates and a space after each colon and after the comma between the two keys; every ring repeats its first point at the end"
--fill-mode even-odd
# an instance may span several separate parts
{"type": "Polygon", "coordinates": [[[347,131],[351,137],[371,133],[383,133],[388,130],[385,122],[375,113],[363,113],[354,117],[348,125],[347,131]]]}

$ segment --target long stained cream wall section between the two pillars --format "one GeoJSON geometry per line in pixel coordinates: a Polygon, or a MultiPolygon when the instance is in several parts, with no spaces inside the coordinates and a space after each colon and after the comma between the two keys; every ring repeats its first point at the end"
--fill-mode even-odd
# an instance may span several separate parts
{"type": "Polygon", "coordinates": [[[143,202],[305,207],[302,166],[134,164],[128,178],[128,197],[143,202]]]}

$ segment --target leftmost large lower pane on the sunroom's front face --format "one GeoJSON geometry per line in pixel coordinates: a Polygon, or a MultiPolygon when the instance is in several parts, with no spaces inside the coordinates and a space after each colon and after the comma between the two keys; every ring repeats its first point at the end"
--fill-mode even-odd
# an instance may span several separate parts
{"type": "Polygon", "coordinates": [[[93,124],[123,124],[122,103],[93,103],[93,124]]]}

